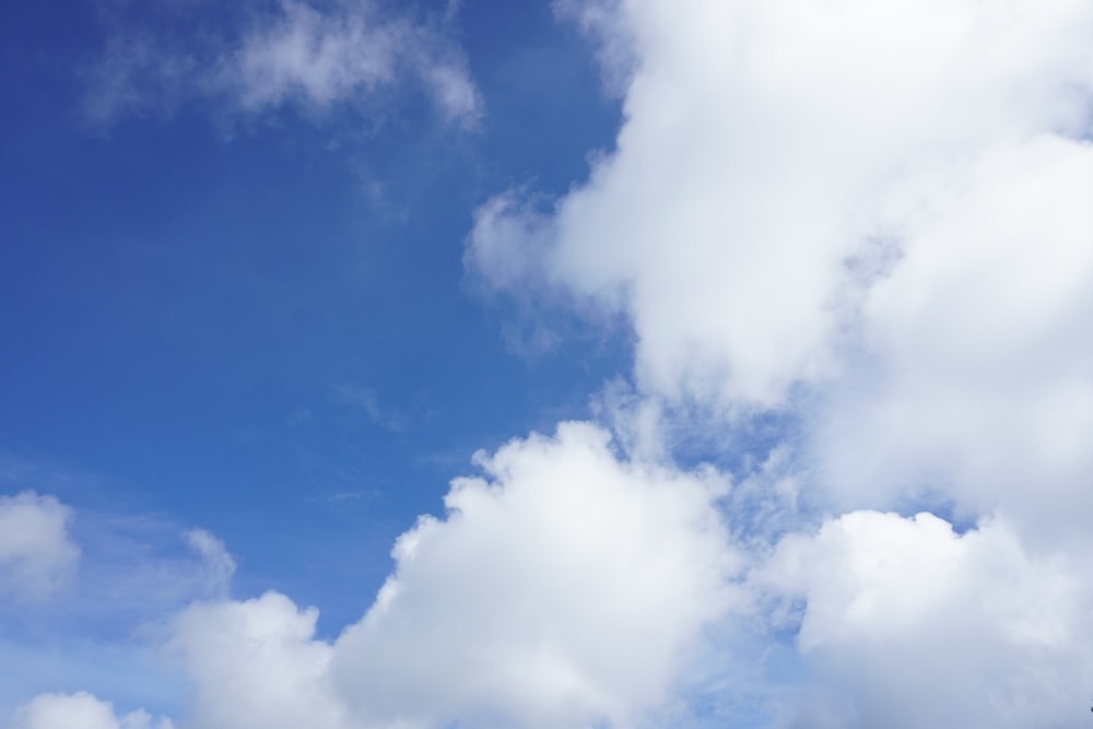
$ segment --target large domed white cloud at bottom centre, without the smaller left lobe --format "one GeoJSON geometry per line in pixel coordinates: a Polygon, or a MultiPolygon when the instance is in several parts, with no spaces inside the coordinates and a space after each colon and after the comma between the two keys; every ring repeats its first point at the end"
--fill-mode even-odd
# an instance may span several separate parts
{"type": "Polygon", "coordinates": [[[625,722],[670,686],[727,607],[733,564],[709,477],[620,463],[563,424],[479,461],[446,521],[403,534],[398,567],[342,637],[339,683],[389,721],[625,722]]]}

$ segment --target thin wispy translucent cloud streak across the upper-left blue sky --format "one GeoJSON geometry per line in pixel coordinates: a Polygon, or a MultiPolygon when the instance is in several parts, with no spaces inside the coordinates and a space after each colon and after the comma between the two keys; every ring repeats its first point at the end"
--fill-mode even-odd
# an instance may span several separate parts
{"type": "Polygon", "coordinates": [[[287,106],[312,117],[338,105],[362,113],[403,85],[447,121],[472,124],[479,115],[479,94],[443,26],[387,15],[372,2],[319,9],[282,0],[263,10],[198,2],[188,10],[166,26],[197,23],[200,33],[109,16],[85,102],[92,122],[108,127],[210,102],[240,117],[287,106]]]}

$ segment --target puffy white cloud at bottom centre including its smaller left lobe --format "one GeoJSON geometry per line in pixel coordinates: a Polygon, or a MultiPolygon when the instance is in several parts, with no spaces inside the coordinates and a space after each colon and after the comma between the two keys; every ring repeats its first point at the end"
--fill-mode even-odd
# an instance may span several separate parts
{"type": "Polygon", "coordinates": [[[193,720],[233,727],[622,726],[667,702],[741,568],[714,506],[725,483],[620,461],[563,424],[480,455],[443,520],[393,551],[375,604],[333,643],[267,593],[200,603],[172,649],[193,720]]]}

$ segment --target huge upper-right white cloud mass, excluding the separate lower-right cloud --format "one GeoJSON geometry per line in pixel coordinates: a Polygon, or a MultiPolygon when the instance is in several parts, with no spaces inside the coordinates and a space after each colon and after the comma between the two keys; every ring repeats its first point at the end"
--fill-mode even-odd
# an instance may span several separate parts
{"type": "Polygon", "coordinates": [[[808,401],[843,508],[1089,514],[1093,9],[590,8],[636,56],[618,149],[553,210],[486,202],[468,266],[625,314],[654,399],[808,401]]]}

